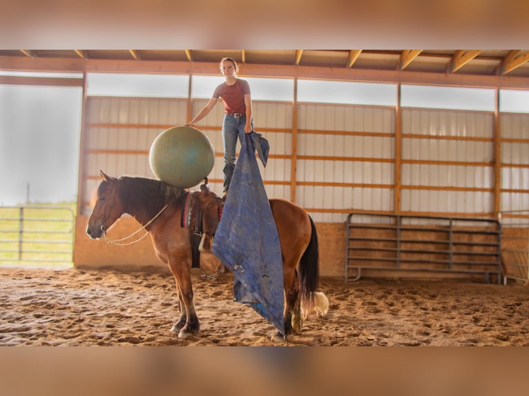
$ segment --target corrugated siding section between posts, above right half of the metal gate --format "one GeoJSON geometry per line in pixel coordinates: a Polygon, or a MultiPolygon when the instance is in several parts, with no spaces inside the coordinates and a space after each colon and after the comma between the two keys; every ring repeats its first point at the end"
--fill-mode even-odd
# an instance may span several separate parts
{"type": "Polygon", "coordinates": [[[494,116],[490,112],[403,109],[402,134],[401,210],[492,212],[494,116]],[[483,138],[490,140],[479,140],[483,138]],[[406,160],[419,163],[407,164],[406,160]],[[421,164],[421,161],[440,164],[421,164]],[[453,164],[458,162],[462,164],[453,164]],[[468,164],[472,162],[475,164],[468,164]],[[490,191],[470,191],[476,188],[490,191]]]}

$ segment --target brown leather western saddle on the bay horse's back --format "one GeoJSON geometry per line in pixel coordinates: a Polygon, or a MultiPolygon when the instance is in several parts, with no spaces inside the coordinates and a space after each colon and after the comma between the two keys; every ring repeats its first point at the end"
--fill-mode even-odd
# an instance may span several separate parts
{"type": "Polygon", "coordinates": [[[193,251],[192,268],[200,267],[200,252],[211,250],[223,207],[224,199],[209,190],[207,177],[200,186],[200,191],[188,193],[182,208],[180,226],[189,228],[189,241],[193,251]]]}

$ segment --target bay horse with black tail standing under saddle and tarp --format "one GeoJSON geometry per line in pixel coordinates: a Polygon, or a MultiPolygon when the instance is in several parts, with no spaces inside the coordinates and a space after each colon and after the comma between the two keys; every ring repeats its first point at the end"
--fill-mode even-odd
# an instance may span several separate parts
{"type": "MultiPolygon", "coordinates": [[[[104,237],[106,230],[125,213],[145,226],[157,257],[169,266],[175,277],[180,318],[171,331],[177,331],[179,338],[197,334],[200,324],[191,286],[193,252],[189,229],[182,227],[180,220],[185,197],[188,193],[200,195],[200,192],[188,192],[156,179],[115,178],[102,171],[100,176],[102,181],[97,188],[86,233],[92,239],[104,237]]],[[[208,206],[211,202],[221,202],[222,198],[208,189],[200,201],[208,206]]],[[[318,235],[314,221],[300,206],[285,199],[269,199],[269,203],[280,239],[285,289],[283,319],[287,337],[301,330],[301,308],[308,312],[314,304],[319,277],[318,235]]],[[[214,230],[210,230],[210,234],[213,233],[214,230]]],[[[283,339],[279,332],[274,338],[277,337],[283,339]]]]}

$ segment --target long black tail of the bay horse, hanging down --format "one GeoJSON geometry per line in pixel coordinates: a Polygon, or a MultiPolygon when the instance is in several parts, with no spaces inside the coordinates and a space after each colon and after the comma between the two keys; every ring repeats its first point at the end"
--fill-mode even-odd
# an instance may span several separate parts
{"type": "Polygon", "coordinates": [[[318,234],[316,226],[309,216],[311,224],[311,239],[305,253],[301,256],[299,266],[299,288],[302,306],[311,307],[314,304],[314,294],[320,280],[318,234]]]}

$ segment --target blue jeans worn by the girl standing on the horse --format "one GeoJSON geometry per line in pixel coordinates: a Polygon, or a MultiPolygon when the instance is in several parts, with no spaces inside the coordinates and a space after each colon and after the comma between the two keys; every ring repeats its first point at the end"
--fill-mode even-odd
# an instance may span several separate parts
{"type": "MultiPolygon", "coordinates": [[[[240,118],[229,117],[224,115],[222,121],[222,143],[224,144],[224,191],[227,191],[235,170],[235,151],[237,149],[237,139],[242,144],[244,138],[244,125],[246,116],[240,118]]],[[[251,130],[253,130],[253,120],[251,121],[251,130]]]]}

